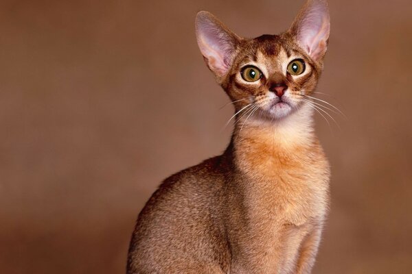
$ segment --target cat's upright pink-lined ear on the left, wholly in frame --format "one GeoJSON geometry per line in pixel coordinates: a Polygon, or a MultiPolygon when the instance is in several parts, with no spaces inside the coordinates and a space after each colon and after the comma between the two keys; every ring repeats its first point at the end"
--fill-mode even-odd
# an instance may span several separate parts
{"type": "Polygon", "coordinates": [[[196,15],[196,38],[203,58],[216,77],[224,77],[233,62],[240,37],[233,34],[210,12],[196,15]]]}

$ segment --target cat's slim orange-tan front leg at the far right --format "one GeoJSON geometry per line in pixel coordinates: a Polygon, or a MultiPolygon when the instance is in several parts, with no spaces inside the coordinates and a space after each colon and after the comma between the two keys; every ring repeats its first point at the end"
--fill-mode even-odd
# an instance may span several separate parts
{"type": "Polygon", "coordinates": [[[321,241],[321,234],[321,227],[316,227],[302,242],[297,260],[297,274],[309,274],[312,271],[319,242],[321,241]]]}

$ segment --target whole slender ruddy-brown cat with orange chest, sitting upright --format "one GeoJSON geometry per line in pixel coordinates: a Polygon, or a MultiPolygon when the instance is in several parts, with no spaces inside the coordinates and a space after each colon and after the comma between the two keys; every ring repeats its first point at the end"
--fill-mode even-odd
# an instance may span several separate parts
{"type": "Polygon", "coordinates": [[[139,214],[127,273],[310,273],[329,164],[310,95],[330,18],[308,0],[288,32],[240,38],[209,12],[198,45],[236,108],[226,151],[168,179],[139,214]]]}

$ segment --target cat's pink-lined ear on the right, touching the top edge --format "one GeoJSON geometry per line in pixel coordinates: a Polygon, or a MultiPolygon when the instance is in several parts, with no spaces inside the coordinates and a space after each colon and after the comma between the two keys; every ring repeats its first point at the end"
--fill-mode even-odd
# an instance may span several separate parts
{"type": "Polygon", "coordinates": [[[290,31],[314,60],[321,60],[328,47],[330,16],[326,0],[307,0],[290,31]]]}

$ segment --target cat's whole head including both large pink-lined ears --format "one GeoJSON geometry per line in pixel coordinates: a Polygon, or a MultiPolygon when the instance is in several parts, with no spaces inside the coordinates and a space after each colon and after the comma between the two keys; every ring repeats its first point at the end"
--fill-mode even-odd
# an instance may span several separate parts
{"type": "Polygon", "coordinates": [[[325,0],[306,1],[287,32],[253,39],[237,36],[209,12],[196,16],[205,62],[236,110],[259,110],[267,119],[282,119],[299,110],[305,96],[312,94],[323,69],[329,31],[325,0]]]}

